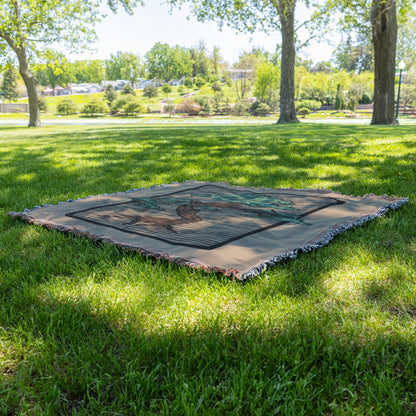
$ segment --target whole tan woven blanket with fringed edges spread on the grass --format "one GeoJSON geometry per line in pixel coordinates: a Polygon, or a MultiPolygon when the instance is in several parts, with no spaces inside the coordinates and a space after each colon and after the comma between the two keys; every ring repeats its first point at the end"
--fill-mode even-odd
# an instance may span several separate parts
{"type": "Polygon", "coordinates": [[[8,215],[245,280],[407,200],[188,181],[8,215]]]}

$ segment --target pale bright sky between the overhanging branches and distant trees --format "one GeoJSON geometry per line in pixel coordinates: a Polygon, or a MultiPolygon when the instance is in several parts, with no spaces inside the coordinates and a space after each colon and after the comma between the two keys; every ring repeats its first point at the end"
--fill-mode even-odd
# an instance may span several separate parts
{"type": "MultiPolygon", "coordinates": [[[[187,19],[189,12],[186,9],[174,10],[170,15],[168,6],[160,5],[156,1],[151,5],[150,2],[147,3],[144,7],[137,7],[133,16],[122,10],[114,15],[104,8],[107,17],[96,26],[99,41],[92,46],[96,51],[71,55],[70,60],[107,59],[110,54],[120,50],[144,56],[156,42],[192,47],[199,40],[204,40],[209,50],[219,46],[224,59],[233,63],[238,60],[241,52],[251,50],[252,47],[264,47],[266,51],[274,52],[276,44],[280,43],[278,31],[269,35],[256,33],[252,36],[237,34],[228,27],[219,31],[214,22],[199,23],[193,17],[187,19]]],[[[298,19],[303,21],[308,11],[300,4],[297,14],[298,19]]],[[[300,36],[306,40],[306,31],[301,32],[300,36]]],[[[336,42],[328,45],[326,42],[315,41],[311,46],[302,49],[300,55],[313,62],[328,61],[335,46],[336,42]]]]}

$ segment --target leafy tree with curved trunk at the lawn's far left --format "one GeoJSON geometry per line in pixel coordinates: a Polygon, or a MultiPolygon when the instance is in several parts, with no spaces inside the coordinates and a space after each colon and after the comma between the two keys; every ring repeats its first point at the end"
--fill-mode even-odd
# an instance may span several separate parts
{"type": "MultiPolygon", "coordinates": [[[[122,6],[128,12],[141,0],[108,0],[115,11],[122,6]]],[[[29,96],[29,126],[39,126],[36,78],[30,63],[51,44],[70,49],[87,45],[94,37],[94,25],[102,17],[101,1],[83,0],[0,0],[0,49],[13,51],[19,73],[29,96]]]]}

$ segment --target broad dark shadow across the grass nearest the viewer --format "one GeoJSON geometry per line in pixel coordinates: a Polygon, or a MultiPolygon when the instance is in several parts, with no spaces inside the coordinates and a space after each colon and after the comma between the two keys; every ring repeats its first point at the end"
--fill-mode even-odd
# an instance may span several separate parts
{"type": "Polygon", "coordinates": [[[236,310],[209,325],[149,328],[132,317],[120,320],[116,306],[88,294],[66,298],[44,289],[26,285],[20,301],[17,294],[9,300],[14,310],[0,309],[9,363],[2,381],[6,414],[285,409],[308,415],[377,408],[404,415],[416,394],[410,339],[366,335],[362,322],[351,329],[342,324],[348,314],[325,305],[300,307],[268,324],[241,322],[236,310]]]}

